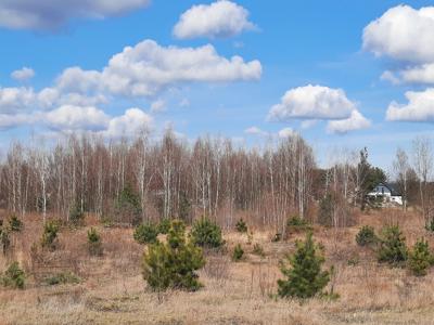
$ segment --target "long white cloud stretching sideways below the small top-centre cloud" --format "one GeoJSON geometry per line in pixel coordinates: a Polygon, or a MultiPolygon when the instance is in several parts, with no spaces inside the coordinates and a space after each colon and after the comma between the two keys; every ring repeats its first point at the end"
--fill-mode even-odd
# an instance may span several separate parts
{"type": "Polygon", "coordinates": [[[161,47],[144,40],[114,55],[102,73],[104,87],[113,94],[153,96],[169,86],[184,82],[257,80],[258,61],[219,56],[213,46],[200,48],[161,47]]]}

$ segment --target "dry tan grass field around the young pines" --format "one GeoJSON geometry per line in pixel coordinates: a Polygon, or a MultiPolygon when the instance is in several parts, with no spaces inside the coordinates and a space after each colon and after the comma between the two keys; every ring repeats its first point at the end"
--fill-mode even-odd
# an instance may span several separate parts
{"type": "MultiPolygon", "coordinates": [[[[103,227],[90,218],[87,226],[63,230],[60,247],[53,252],[31,252],[42,232],[40,217],[25,219],[25,230],[13,238],[13,255],[28,273],[26,287],[0,289],[0,324],[433,324],[434,272],[414,277],[405,269],[379,265],[374,253],[355,244],[360,224],[375,230],[398,223],[412,245],[425,236],[423,221],[398,210],[359,216],[347,229],[315,227],[315,239],[326,246],[327,263],[336,273],[330,285],[340,299],[276,299],[278,262],[294,249],[295,238],[271,243],[272,233],[253,230],[253,239],[226,232],[226,252],[207,253],[200,272],[204,287],[196,292],[155,294],[141,277],[143,246],[132,239],[132,230],[103,227]],[[104,255],[90,257],[86,249],[87,229],[93,224],[102,234],[104,255]],[[232,247],[241,243],[246,255],[241,262],[230,259],[232,247]],[[260,244],[265,257],[253,253],[260,244]],[[39,262],[38,262],[39,261],[39,262]],[[41,262],[43,261],[43,262],[41,262]],[[348,262],[349,261],[349,262],[348,262]],[[50,272],[72,271],[79,284],[42,284],[50,272]]],[[[330,289],[330,285],[328,289],[330,289]]]]}

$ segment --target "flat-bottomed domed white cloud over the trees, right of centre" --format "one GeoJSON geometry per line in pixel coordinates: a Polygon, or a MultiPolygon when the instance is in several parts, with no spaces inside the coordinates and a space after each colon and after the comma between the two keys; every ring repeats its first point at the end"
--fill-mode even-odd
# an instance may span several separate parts
{"type": "Polygon", "coordinates": [[[343,119],[354,109],[356,105],[342,89],[308,84],[286,91],[281,103],[271,107],[268,119],[343,119]]]}

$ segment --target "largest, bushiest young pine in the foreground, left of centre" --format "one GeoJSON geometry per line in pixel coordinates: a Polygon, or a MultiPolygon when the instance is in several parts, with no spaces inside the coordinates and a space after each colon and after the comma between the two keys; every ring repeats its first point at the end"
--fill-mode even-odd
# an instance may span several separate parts
{"type": "Polygon", "coordinates": [[[154,290],[197,290],[202,284],[195,273],[204,266],[202,249],[186,238],[186,226],[173,221],[167,243],[156,242],[143,252],[143,278],[154,290]]]}

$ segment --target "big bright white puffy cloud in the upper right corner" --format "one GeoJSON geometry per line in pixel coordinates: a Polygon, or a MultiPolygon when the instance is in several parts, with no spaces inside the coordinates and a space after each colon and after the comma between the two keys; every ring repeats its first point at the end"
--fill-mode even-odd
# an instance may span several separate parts
{"type": "Polygon", "coordinates": [[[400,63],[381,79],[393,84],[434,83],[434,6],[416,10],[398,5],[387,10],[363,30],[363,48],[400,63]]]}

